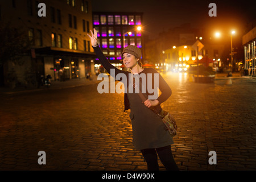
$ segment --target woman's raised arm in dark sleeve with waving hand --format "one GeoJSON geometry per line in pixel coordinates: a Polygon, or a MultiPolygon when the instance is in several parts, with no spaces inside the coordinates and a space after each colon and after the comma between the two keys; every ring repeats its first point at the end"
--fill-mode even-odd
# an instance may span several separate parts
{"type": "Polygon", "coordinates": [[[98,59],[100,60],[102,66],[106,69],[106,71],[110,74],[110,69],[114,69],[115,70],[115,76],[118,73],[126,73],[125,71],[121,71],[120,69],[115,68],[112,64],[109,63],[109,60],[106,59],[106,56],[104,55],[104,53],[102,53],[100,47],[98,46],[98,42],[97,42],[97,31],[95,30],[95,28],[93,28],[93,31],[90,30],[90,33],[92,34],[92,36],[90,36],[89,34],[87,34],[90,38],[90,42],[92,43],[92,47],[94,49],[94,52],[96,53],[98,59]]]}

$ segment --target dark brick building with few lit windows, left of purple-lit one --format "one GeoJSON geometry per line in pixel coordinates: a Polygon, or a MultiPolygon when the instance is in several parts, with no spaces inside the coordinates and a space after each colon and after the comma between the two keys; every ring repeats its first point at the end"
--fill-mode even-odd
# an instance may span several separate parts
{"type": "Polygon", "coordinates": [[[29,85],[28,75],[61,81],[94,71],[96,56],[87,36],[93,28],[90,0],[1,0],[0,16],[0,22],[26,32],[31,43],[30,51],[21,55],[23,65],[9,62],[2,68],[2,85],[8,85],[9,72],[16,75],[16,84],[29,85]]]}

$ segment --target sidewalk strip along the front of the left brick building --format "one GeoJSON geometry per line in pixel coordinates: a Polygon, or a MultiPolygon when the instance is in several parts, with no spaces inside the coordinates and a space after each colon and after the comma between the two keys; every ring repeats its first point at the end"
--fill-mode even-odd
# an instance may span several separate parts
{"type": "Polygon", "coordinates": [[[64,89],[64,88],[73,88],[76,86],[84,86],[84,85],[90,85],[90,84],[96,84],[97,82],[100,82],[101,80],[97,80],[97,76],[92,76],[92,80],[86,79],[86,78],[77,78],[72,80],[66,80],[66,81],[51,81],[51,86],[49,88],[46,88],[45,86],[40,86],[40,88],[0,88],[0,94],[14,94],[14,93],[29,93],[29,92],[37,92],[40,90],[46,90],[46,89],[64,89]]]}

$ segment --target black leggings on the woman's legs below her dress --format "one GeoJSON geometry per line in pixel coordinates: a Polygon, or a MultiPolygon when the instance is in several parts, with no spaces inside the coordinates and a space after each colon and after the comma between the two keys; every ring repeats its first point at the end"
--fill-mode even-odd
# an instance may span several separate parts
{"type": "Polygon", "coordinates": [[[171,146],[160,148],[146,148],[141,150],[144,159],[147,162],[148,171],[159,171],[158,156],[167,171],[178,171],[179,168],[172,156],[171,146]],[[156,154],[157,152],[157,154],[156,154]]]}

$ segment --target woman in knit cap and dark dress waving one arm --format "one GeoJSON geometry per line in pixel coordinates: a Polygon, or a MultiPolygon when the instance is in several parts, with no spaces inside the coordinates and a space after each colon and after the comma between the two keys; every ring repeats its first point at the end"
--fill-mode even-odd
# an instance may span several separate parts
{"type": "MultiPolygon", "coordinates": [[[[114,78],[118,73],[123,73],[127,76],[125,81],[122,81],[125,85],[128,84],[129,73],[126,71],[121,71],[115,68],[112,64],[109,63],[108,59],[102,53],[100,47],[97,43],[97,32],[94,29],[94,32],[90,31],[92,36],[89,36],[92,47],[98,59],[100,60],[103,67],[108,73],[111,69],[114,69],[114,78]]],[[[159,89],[162,92],[156,100],[149,100],[142,102],[138,93],[127,92],[125,93],[125,110],[130,109],[130,119],[133,127],[133,144],[135,149],[141,150],[144,159],[147,162],[148,170],[159,170],[158,166],[158,156],[164,167],[167,170],[179,170],[177,167],[174,158],[172,156],[171,144],[174,143],[168,131],[164,129],[164,124],[162,118],[158,114],[155,114],[150,107],[154,107],[156,111],[162,110],[160,104],[167,100],[171,96],[171,88],[168,86],[163,77],[152,68],[142,68],[139,64],[141,59],[141,50],[137,46],[127,46],[123,49],[122,60],[126,68],[130,68],[133,76],[140,76],[145,74],[148,79],[148,73],[158,74],[159,89]]],[[[152,85],[154,85],[152,83],[152,85]]],[[[141,85],[139,85],[141,86],[141,85]]],[[[133,88],[134,89],[134,88],[133,88]]],[[[126,88],[126,90],[129,90],[126,88]]],[[[147,90],[148,91],[148,90],[147,90]]],[[[146,97],[152,95],[152,93],[146,93],[146,97]]]]}

